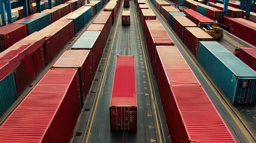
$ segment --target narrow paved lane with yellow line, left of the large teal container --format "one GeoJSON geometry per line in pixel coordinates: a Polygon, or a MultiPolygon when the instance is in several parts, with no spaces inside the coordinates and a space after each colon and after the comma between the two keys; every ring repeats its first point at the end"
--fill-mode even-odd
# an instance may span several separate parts
{"type": "Polygon", "coordinates": [[[218,112],[221,114],[221,117],[223,117],[231,132],[235,136],[236,140],[238,142],[255,142],[255,139],[253,137],[254,134],[252,133],[252,131],[249,130],[248,127],[246,128],[246,123],[242,120],[241,117],[239,117],[239,113],[237,113],[236,110],[233,110],[232,105],[227,102],[228,100],[226,99],[226,97],[223,94],[220,94],[220,89],[216,88],[213,82],[209,80],[210,77],[208,76],[208,74],[206,74],[206,72],[203,72],[202,67],[199,65],[196,58],[186,48],[184,43],[181,42],[179,38],[177,38],[177,35],[172,31],[168,24],[166,24],[164,18],[162,18],[158,11],[155,10],[152,4],[148,3],[150,3],[149,1],[147,1],[147,5],[152,8],[158,20],[161,21],[169,36],[171,36],[175,45],[180,50],[181,54],[183,55],[189,66],[192,68],[196,77],[198,77],[199,81],[202,83],[203,88],[205,88],[218,112]]]}

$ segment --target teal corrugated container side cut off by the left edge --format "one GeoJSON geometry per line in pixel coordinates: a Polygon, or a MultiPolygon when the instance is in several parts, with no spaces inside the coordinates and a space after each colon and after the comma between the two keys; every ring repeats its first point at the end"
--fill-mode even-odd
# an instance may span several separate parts
{"type": "Polygon", "coordinates": [[[11,72],[0,81],[0,116],[10,107],[17,98],[14,73],[11,72]]]}

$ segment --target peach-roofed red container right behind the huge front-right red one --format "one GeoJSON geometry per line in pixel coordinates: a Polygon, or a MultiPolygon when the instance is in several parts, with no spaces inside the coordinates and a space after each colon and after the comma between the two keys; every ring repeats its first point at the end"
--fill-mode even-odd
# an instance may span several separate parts
{"type": "Polygon", "coordinates": [[[158,20],[145,20],[144,35],[149,51],[150,62],[154,69],[156,46],[174,45],[172,39],[158,20]]]}

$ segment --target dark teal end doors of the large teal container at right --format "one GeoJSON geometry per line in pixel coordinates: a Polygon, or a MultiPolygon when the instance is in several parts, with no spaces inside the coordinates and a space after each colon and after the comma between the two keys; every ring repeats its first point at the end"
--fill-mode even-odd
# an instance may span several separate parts
{"type": "Polygon", "coordinates": [[[234,104],[254,104],[256,94],[256,80],[238,80],[234,104]]]}

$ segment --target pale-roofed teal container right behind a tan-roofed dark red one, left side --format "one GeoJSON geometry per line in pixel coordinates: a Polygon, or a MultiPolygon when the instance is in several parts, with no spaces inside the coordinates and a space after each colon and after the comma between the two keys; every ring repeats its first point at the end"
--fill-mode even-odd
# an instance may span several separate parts
{"type": "Polygon", "coordinates": [[[75,32],[75,35],[76,33],[79,32],[79,30],[82,29],[82,27],[84,27],[84,15],[82,13],[75,13],[75,14],[72,14],[70,17],[67,17],[67,19],[69,20],[73,20],[73,23],[74,23],[74,32],[75,32]]]}

